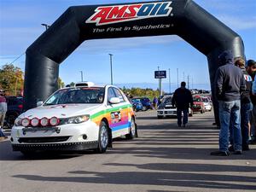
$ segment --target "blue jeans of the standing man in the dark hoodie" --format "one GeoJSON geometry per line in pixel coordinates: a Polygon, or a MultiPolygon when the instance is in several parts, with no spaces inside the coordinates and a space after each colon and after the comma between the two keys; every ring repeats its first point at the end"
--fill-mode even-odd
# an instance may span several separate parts
{"type": "Polygon", "coordinates": [[[218,102],[219,110],[219,150],[228,151],[229,149],[229,128],[233,132],[233,147],[235,151],[241,151],[241,103],[240,100],[232,102],[218,102]]]}

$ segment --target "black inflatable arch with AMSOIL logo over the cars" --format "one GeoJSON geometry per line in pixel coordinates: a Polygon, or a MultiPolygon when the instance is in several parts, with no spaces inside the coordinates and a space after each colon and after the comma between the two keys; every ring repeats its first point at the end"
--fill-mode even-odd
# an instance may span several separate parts
{"type": "Polygon", "coordinates": [[[244,57],[240,36],[192,0],[74,6],[26,49],[25,110],[57,90],[61,61],[85,40],[172,34],[207,56],[212,88],[221,52],[244,57]]]}

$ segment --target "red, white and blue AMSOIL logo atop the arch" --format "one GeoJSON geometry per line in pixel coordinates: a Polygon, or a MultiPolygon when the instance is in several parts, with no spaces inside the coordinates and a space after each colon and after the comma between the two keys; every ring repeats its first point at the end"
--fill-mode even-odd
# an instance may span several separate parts
{"type": "Polygon", "coordinates": [[[172,12],[171,4],[172,2],[139,3],[98,7],[95,9],[96,13],[85,22],[96,23],[96,26],[103,26],[130,20],[165,17],[169,16],[172,12]]]}

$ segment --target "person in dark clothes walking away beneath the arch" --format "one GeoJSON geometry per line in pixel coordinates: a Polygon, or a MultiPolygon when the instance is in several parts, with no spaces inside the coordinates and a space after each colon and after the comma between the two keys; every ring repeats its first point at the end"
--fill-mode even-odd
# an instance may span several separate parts
{"type": "Polygon", "coordinates": [[[180,127],[182,124],[185,127],[188,123],[189,117],[189,104],[193,106],[193,97],[190,90],[186,89],[186,83],[181,82],[181,87],[174,91],[172,96],[172,106],[177,108],[177,125],[180,127]],[[183,120],[182,120],[183,113],[183,120]]]}

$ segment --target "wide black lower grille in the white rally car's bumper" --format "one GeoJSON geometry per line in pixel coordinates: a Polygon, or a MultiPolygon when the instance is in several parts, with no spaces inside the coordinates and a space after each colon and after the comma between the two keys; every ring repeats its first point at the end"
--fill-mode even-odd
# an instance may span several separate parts
{"type": "Polygon", "coordinates": [[[19,143],[57,143],[66,142],[69,136],[66,137],[22,137],[18,139],[19,143]]]}

